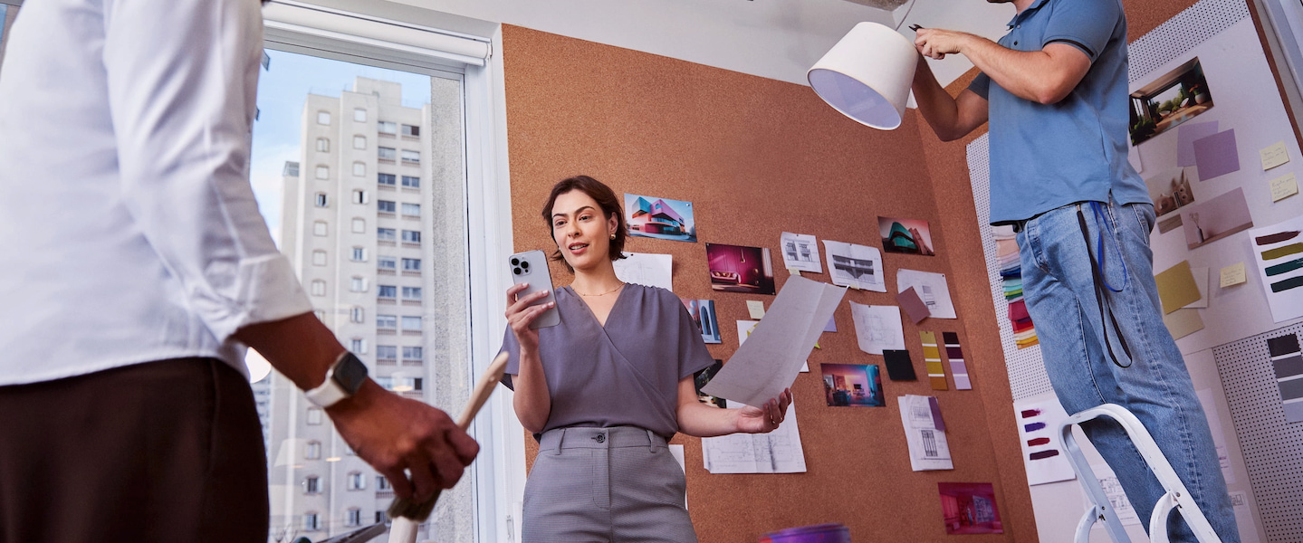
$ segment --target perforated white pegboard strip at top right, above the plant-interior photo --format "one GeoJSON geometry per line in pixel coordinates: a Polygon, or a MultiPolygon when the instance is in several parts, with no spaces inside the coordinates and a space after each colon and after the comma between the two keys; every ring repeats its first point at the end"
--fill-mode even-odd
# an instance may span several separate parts
{"type": "Polygon", "coordinates": [[[1127,48],[1131,83],[1248,17],[1246,0],[1203,0],[1177,13],[1127,48]]]}

